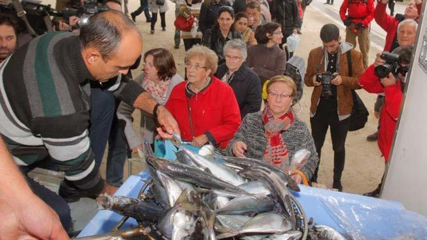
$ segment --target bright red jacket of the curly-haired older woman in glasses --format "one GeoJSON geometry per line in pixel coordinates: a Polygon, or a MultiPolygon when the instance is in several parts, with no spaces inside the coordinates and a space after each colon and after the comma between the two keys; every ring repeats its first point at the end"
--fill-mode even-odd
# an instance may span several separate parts
{"type": "Polygon", "coordinates": [[[212,144],[225,148],[240,126],[239,104],[227,83],[215,77],[212,79],[205,90],[190,98],[186,95],[188,82],[179,83],[172,90],[166,108],[178,121],[182,140],[191,141],[194,137],[206,134],[212,144]],[[193,129],[190,127],[189,115],[193,129]]]}

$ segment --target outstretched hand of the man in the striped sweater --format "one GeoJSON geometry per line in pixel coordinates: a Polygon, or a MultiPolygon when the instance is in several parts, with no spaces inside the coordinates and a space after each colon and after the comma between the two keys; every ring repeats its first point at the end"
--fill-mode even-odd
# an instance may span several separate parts
{"type": "Polygon", "coordinates": [[[161,126],[157,128],[157,132],[162,138],[172,139],[172,133],[181,135],[177,120],[164,106],[157,108],[157,121],[161,126]]]}

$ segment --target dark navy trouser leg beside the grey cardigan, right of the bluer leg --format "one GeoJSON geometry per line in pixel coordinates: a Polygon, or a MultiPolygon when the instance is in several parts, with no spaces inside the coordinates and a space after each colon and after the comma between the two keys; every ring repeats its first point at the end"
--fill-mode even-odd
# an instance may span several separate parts
{"type": "Polygon", "coordinates": [[[125,121],[118,120],[115,116],[108,139],[106,180],[117,187],[122,184],[124,164],[131,154],[125,137],[125,125],[125,121]]]}

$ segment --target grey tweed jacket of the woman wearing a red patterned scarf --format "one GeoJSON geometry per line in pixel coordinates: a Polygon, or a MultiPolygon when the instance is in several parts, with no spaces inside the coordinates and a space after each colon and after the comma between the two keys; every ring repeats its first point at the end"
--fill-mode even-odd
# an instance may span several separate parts
{"type": "MultiPolygon", "coordinates": [[[[288,147],[289,160],[291,160],[296,151],[300,149],[307,149],[312,153],[310,159],[307,160],[307,163],[301,168],[301,171],[310,181],[319,162],[319,158],[317,157],[316,147],[314,146],[314,141],[307,125],[299,118],[295,117],[294,123],[289,129],[282,132],[281,138],[288,147]]],[[[263,160],[265,147],[267,146],[263,112],[246,114],[239,130],[237,130],[233,139],[227,146],[227,155],[233,156],[232,147],[238,141],[242,141],[247,145],[247,151],[245,152],[247,158],[263,160]]]]}

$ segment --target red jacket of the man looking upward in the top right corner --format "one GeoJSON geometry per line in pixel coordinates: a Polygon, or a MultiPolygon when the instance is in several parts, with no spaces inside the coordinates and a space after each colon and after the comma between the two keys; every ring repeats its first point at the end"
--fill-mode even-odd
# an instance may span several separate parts
{"type": "MultiPolygon", "coordinates": [[[[417,4],[418,14],[421,12],[422,4],[417,4]]],[[[394,36],[397,32],[397,25],[399,25],[399,20],[397,20],[394,16],[390,16],[386,12],[387,4],[381,3],[380,1],[377,3],[374,11],[374,18],[378,25],[387,32],[387,36],[385,37],[385,46],[384,51],[390,51],[392,48],[394,36]]]]}

